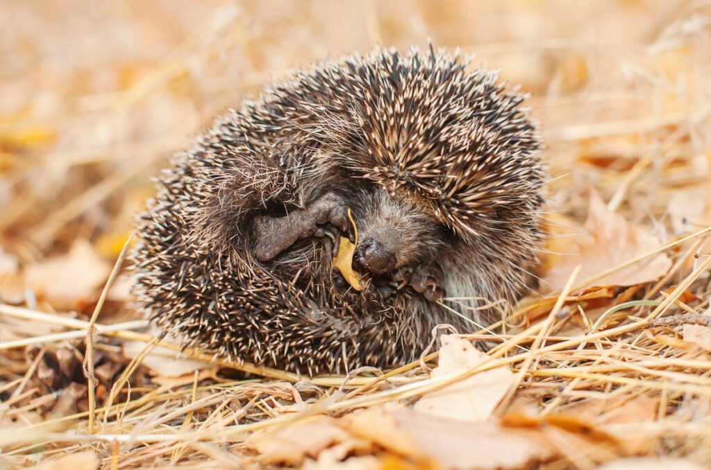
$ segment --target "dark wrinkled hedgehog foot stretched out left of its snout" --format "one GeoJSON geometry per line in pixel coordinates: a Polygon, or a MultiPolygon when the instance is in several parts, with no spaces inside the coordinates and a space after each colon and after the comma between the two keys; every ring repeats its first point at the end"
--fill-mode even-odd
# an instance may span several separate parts
{"type": "Polygon", "coordinates": [[[336,193],[326,192],[305,209],[295,209],[283,217],[255,217],[252,222],[256,241],[253,253],[259,261],[269,261],[297,240],[314,235],[326,237],[331,241],[328,248],[333,250],[338,248],[338,234],[347,229],[346,202],[336,193]]]}

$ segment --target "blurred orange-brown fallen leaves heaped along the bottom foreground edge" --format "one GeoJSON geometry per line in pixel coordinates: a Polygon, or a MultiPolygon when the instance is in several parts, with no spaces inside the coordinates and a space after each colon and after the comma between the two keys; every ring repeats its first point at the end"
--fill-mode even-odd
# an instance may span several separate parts
{"type": "MultiPolygon", "coordinates": [[[[351,455],[375,453],[381,464],[403,459],[415,468],[518,469],[555,455],[540,432],[493,422],[464,422],[402,407],[373,408],[338,420],[318,417],[255,434],[247,443],[268,464],[348,468],[351,455]]],[[[370,462],[370,461],[369,461],[370,462]]],[[[308,468],[308,467],[307,467],[308,468]]]]}

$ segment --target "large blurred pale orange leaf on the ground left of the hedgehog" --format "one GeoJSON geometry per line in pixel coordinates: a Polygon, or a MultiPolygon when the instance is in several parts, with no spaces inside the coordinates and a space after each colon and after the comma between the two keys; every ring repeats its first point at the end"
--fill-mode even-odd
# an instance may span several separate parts
{"type": "Polygon", "coordinates": [[[65,255],[29,266],[25,280],[55,307],[72,307],[104,285],[110,270],[109,263],[97,255],[91,244],[80,239],[65,255]]]}

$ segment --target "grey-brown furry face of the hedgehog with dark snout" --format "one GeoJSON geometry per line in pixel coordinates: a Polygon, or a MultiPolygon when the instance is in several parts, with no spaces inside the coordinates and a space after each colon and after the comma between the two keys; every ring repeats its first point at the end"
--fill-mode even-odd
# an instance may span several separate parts
{"type": "Polygon", "coordinates": [[[355,199],[355,261],[370,272],[389,273],[422,262],[444,246],[442,224],[417,202],[381,189],[355,199]]]}

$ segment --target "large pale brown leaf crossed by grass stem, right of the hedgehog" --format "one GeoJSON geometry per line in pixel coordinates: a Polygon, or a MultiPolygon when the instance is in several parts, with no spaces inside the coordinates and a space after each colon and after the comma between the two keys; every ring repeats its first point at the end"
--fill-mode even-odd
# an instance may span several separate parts
{"type": "MultiPolygon", "coordinates": [[[[577,249],[553,266],[545,276],[541,288],[560,290],[577,265],[582,265],[578,279],[584,280],[619,266],[660,246],[647,229],[629,224],[620,215],[610,212],[602,199],[590,197],[585,233],[574,238],[577,249]]],[[[596,285],[636,285],[661,278],[671,267],[665,253],[635,263],[596,281],[596,285]]]]}

